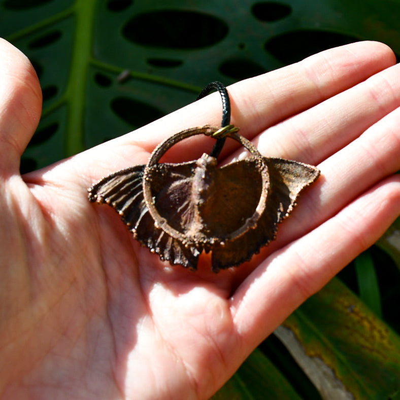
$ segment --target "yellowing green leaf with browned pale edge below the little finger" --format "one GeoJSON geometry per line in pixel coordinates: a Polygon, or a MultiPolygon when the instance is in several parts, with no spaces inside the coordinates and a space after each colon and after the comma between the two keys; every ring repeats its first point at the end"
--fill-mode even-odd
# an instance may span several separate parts
{"type": "Polygon", "coordinates": [[[400,337],[339,279],[332,279],[283,325],[293,337],[286,331],[278,331],[278,337],[291,339],[289,351],[320,393],[335,389],[363,400],[400,393],[400,337]]]}

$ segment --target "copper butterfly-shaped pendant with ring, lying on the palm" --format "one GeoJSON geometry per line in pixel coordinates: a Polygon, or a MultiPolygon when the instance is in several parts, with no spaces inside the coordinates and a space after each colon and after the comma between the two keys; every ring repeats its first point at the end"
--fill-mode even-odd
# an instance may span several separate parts
{"type": "MultiPolygon", "coordinates": [[[[213,88],[222,95],[228,123],[226,89],[217,82],[206,87],[213,88]]],[[[204,250],[212,252],[214,272],[238,266],[275,238],[278,223],[319,170],[262,157],[237,131],[226,124],[176,133],[153,151],[147,165],[115,172],[93,185],[89,201],[115,208],[135,238],[172,265],[195,270],[204,250]],[[217,139],[211,155],[179,164],[158,163],[175,143],[200,134],[217,139]],[[250,156],[219,168],[217,157],[226,137],[242,144],[250,156]]]]}

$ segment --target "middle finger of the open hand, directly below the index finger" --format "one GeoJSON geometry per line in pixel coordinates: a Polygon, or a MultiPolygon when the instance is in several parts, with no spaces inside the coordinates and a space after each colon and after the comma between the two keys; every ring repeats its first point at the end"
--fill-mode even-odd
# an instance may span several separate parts
{"type": "Polygon", "coordinates": [[[264,156],[317,164],[400,106],[400,64],[277,124],[255,140],[264,156]]]}

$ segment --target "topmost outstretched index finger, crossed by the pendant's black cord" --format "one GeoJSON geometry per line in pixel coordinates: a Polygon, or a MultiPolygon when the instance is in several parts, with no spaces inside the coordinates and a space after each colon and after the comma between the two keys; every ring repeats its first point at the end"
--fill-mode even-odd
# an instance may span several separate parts
{"type": "MultiPolygon", "coordinates": [[[[252,138],[261,130],[293,114],[340,93],[395,63],[393,52],[381,43],[359,42],[316,54],[268,74],[228,87],[232,104],[232,119],[241,134],[252,138]],[[374,54],[374,57],[371,57],[374,54]]],[[[163,139],[194,126],[219,125],[221,100],[217,93],[196,101],[168,116],[112,142],[118,153],[113,160],[116,169],[132,164],[132,158],[146,162],[150,153],[163,139]],[[133,155],[133,157],[132,157],[133,155]]],[[[179,162],[197,158],[212,147],[207,140],[190,138],[170,151],[171,159],[179,162]],[[183,157],[182,157],[183,155],[183,157]]],[[[212,140],[212,139],[209,139],[212,140]]],[[[236,144],[228,141],[223,154],[236,144]]],[[[91,158],[104,159],[110,143],[90,152],[91,158]]],[[[133,162],[135,163],[135,162],[133,162]]]]}

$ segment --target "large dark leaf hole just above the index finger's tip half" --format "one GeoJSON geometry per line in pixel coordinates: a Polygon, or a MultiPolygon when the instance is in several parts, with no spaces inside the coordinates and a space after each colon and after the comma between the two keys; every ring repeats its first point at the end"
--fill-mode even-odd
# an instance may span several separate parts
{"type": "Polygon", "coordinates": [[[320,51],[357,42],[349,35],[322,30],[293,30],[268,40],[264,49],[284,64],[292,64],[320,51]]]}

